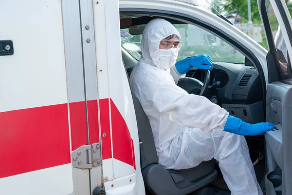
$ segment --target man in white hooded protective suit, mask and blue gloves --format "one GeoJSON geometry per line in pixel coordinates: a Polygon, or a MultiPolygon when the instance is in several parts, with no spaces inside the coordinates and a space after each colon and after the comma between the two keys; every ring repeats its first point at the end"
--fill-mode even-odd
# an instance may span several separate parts
{"type": "Polygon", "coordinates": [[[159,164],[180,170],[215,158],[232,194],[262,195],[244,135],[260,135],[275,126],[245,123],[177,86],[192,67],[212,71],[206,55],[176,62],[180,38],[170,22],[151,20],[142,35],[142,57],[130,76],[152,127],[159,164]]]}

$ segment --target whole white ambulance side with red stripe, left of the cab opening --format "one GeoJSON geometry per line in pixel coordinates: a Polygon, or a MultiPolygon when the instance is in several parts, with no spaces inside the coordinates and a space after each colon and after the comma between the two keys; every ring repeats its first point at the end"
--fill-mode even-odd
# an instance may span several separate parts
{"type": "Polygon", "coordinates": [[[0,2],[14,46],[0,56],[0,194],[145,194],[118,0],[80,2],[0,2]],[[98,141],[102,167],[72,168],[71,151],[98,141]]]}

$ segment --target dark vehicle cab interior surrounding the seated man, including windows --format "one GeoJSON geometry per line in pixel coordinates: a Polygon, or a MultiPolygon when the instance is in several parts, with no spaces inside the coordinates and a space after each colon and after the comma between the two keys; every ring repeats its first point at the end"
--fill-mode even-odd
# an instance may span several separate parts
{"type": "MultiPolygon", "coordinates": [[[[128,78],[141,58],[141,36],[155,18],[168,20],[182,35],[179,58],[206,54],[213,59],[213,71],[192,68],[178,86],[189,94],[202,95],[249,123],[265,121],[263,82],[247,55],[200,26],[167,16],[120,14],[121,52],[128,78]],[[200,31],[200,32],[199,32],[200,31]],[[204,40],[205,45],[200,43],[204,40]],[[206,42],[207,45],[206,46],[206,42]],[[225,50],[225,51],[219,51],[225,50]],[[225,53],[224,53],[225,52],[225,53]],[[203,93],[202,93],[203,92],[203,93]]],[[[158,164],[153,134],[139,100],[133,96],[140,139],[141,169],[146,192],[155,195],[230,194],[215,159],[188,170],[166,170],[158,164]]],[[[246,136],[258,183],[264,188],[264,137],[246,136]]]]}

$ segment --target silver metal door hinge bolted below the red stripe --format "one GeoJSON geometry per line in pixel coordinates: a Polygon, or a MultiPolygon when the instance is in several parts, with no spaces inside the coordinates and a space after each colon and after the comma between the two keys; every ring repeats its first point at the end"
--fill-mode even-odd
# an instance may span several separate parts
{"type": "Polygon", "coordinates": [[[72,165],[79,169],[91,169],[101,165],[100,143],[84,145],[72,152],[72,165]]]}

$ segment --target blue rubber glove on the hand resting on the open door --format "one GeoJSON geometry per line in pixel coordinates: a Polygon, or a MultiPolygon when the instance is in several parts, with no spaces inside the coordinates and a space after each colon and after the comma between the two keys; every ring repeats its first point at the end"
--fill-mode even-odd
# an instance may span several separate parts
{"type": "Polygon", "coordinates": [[[243,122],[240,118],[230,116],[227,118],[224,131],[241,136],[263,135],[266,131],[276,129],[270,122],[250,124],[243,122]]]}

